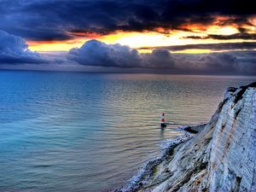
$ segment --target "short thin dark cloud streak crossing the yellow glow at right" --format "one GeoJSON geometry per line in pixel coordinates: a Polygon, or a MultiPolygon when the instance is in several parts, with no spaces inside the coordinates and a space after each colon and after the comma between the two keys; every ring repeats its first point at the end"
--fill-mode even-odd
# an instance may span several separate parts
{"type": "Polygon", "coordinates": [[[235,33],[232,35],[207,35],[206,37],[201,37],[201,36],[187,36],[184,38],[193,38],[193,39],[207,39],[207,38],[213,38],[213,39],[218,39],[218,40],[228,40],[228,39],[249,39],[249,40],[255,40],[256,39],[256,33],[247,33],[247,32],[242,32],[242,33],[235,33]]]}

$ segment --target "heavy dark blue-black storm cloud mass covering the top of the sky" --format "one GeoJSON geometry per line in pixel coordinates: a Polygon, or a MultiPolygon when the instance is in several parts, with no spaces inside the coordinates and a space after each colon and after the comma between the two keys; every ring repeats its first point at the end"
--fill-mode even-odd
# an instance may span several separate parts
{"type": "Polygon", "coordinates": [[[212,15],[232,16],[219,25],[239,25],[255,14],[251,0],[2,0],[0,12],[0,28],[29,40],[65,40],[73,38],[70,32],[180,29],[212,24],[212,15]]]}

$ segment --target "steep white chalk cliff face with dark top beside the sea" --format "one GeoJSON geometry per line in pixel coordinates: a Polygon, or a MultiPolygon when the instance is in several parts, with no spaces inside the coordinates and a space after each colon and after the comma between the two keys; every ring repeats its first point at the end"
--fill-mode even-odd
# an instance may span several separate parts
{"type": "MultiPolygon", "coordinates": [[[[192,127],[193,129],[193,127],[192,127]]],[[[256,83],[227,90],[195,137],[122,191],[256,191],[256,83]]]]}

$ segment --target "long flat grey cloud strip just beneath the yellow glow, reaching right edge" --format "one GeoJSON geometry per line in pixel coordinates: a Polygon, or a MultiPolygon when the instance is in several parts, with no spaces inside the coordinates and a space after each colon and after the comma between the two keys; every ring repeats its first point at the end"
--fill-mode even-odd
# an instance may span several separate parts
{"type": "Polygon", "coordinates": [[[232,50],[232,49],[255,49],[256,42],[241,43],[219,43],[219,44],[185,44],[159,47],[143,47],[140,49],[168,49],[172,51],[185,49],[211,49],[211,50],[232,50]]]}

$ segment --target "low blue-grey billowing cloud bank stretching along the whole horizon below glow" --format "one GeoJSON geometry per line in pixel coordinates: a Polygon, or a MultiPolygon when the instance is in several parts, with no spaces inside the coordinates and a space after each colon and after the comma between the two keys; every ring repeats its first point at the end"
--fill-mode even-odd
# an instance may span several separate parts
{"type": "Polygon", "coordinates": [[[36,64],[32,69],[45,67],[48,70],[68,70],[68,67],[71,67],[72,70],[72,67],[80,66],[90,71],[101,68],[109,72],[114,68],[123,72],[134,69],[138,72],[151,70],[156,73],[256,74],[254,50],[189,55],[172,54],[168,49],[153,49],[152,53],[139,53],[137,49],[131,49],[129,46],[90,40],[82,47],[71,49],[69,52],[40,55],[29,50],[23,38],[7,32],[0,31],[0,42],[2,66],[15,64],[19,68],[26,66],[26,69],[29,69],[28,66],[36,64]]]}

